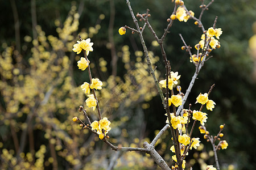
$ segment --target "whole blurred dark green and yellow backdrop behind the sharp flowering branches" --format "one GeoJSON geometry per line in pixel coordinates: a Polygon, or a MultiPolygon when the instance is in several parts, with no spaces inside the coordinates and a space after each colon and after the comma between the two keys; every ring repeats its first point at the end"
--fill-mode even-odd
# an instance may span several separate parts
{"type": "MultiPolygon", "coordinates": [[[[185,5],[199,16],[201,1],[185,1],[185,5]]],[[[171,1],[131,1],[131,6],[135,14],[150,9],[150,23],[162,36],[174,8],[171,1]]],[[[218,151],[221,169],[253,169],[256,165],[255,11],[254,0],[216,0],[202,18],[204,27],[209,28],[218,16],[217,28],[223,31],[221,48],[205,62],[185,107],[191,103],[192,109],[199,109],[194,104],[197,95],[216,84],[210,94],[216,108],[205,112],[210,134],[217,134],[219,125],[225,124],[222,138],[229,146],[218,151]]],[[[134,27],[124,0],[1,1],[0,25],[1,169],[157,168],[148,155],[112,151],[72,121],[74,116],[85,120],[78,112],[80,105],[86,108],[80,85],[89,81],[87,72],[76,66],[82,56],[72,52],[80,34],[94,42],[90,67],[93,76],[104,81],[97,95],[103,117],[112,122],[110,142],[142,147],[165,124],[165,112],[147,71],[139,37],[130,31],[124,36],[118,34],[119,27],[134,27]]],[[[181,74],[179,83],[185,92],[195,67],[181,50],[178,33],[191,46],[202,33],[192,20],[175,20],[164,41],[172,71],[181,74]]],[[[148,29],[144,39],[161,80],[164,64],[159,46],[148,29]]],[[[86,109],[91,121],[97,120],[96,112],[86,109]]],[[[203,145],[190,152],[187,167],[203,169],[214,164],[209,143],[197,129],[193,136],[200,137],[203,145]]],[[[170,138],[167,132],[156,146],[169,165],[173,164],[170,138]]]]}

